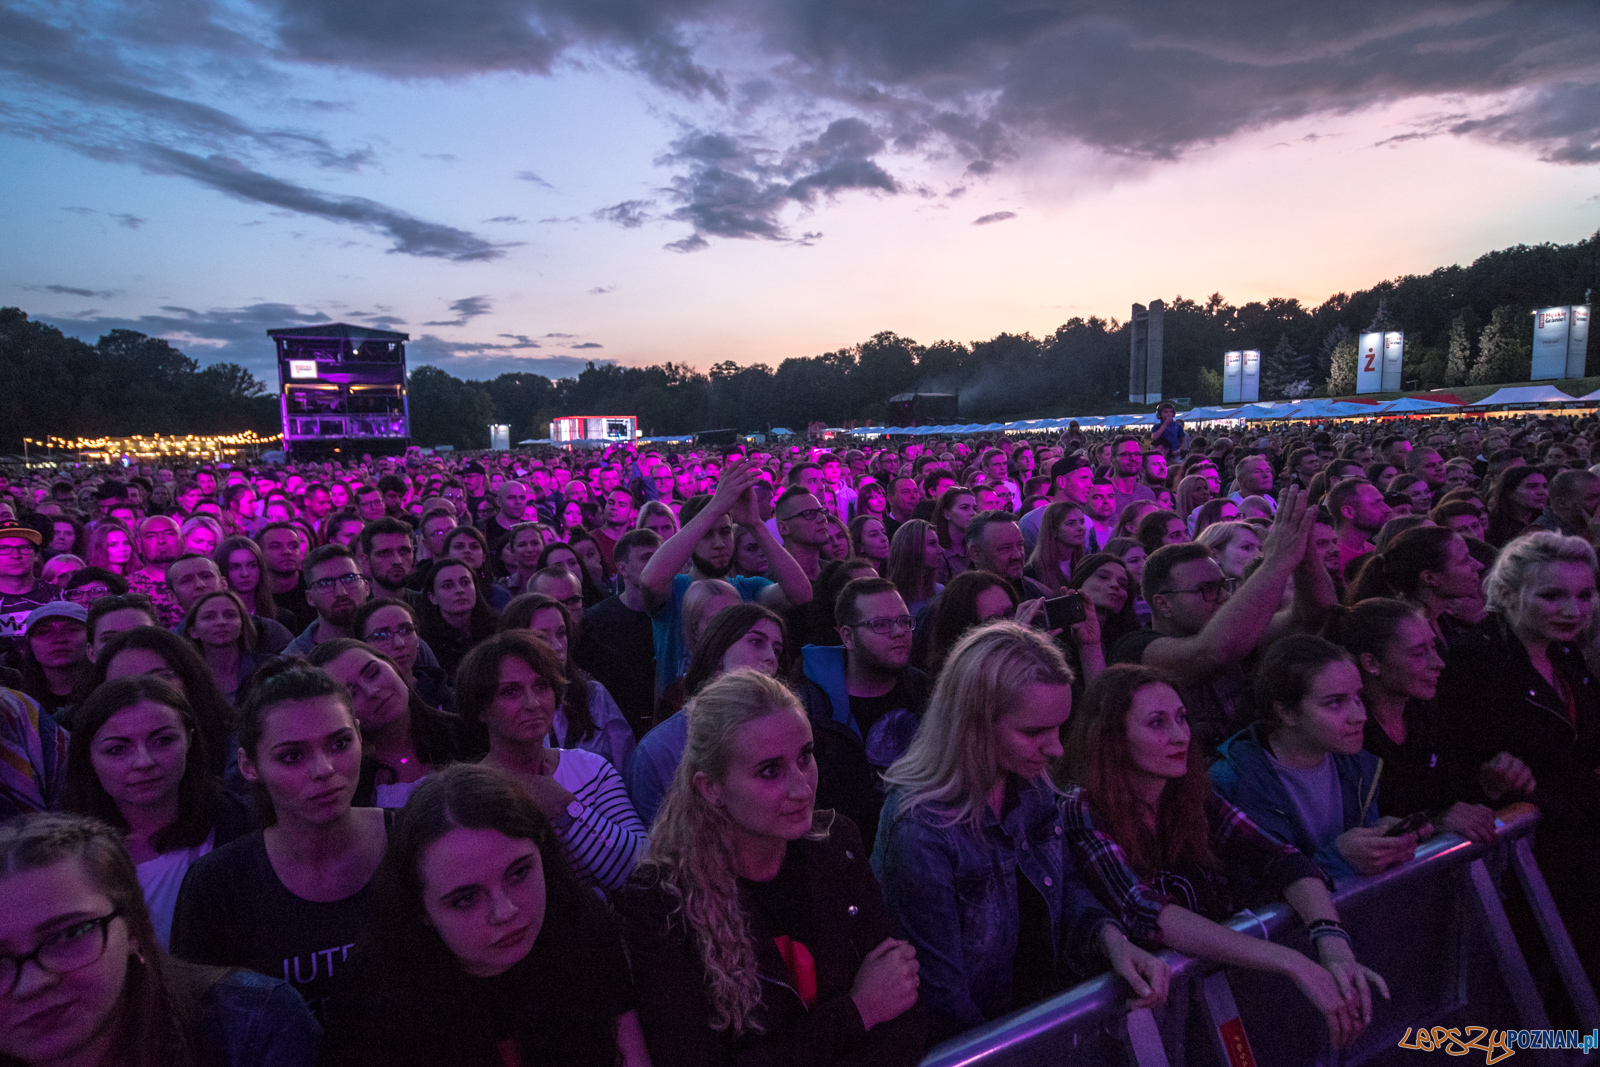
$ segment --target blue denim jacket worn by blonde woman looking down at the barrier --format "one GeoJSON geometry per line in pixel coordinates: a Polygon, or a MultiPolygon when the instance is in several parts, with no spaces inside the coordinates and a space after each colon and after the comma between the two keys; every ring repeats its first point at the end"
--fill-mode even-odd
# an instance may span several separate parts
{"type": "Polygon", "coordinates": [[[917,947],[931,1041],[1011,1011],[1018,872],[1050,905],[1059,982],[1104,969],[1094,933],[1117,923],[1074,867],[1062,797],[1045,779],[1011,777],[1002,816],[984,808],[981,835],[965,822],[947,825],[946,809],[930,805],[901,816],[902,801],[902,790],[890,790],[872,870],[917,947]]]}

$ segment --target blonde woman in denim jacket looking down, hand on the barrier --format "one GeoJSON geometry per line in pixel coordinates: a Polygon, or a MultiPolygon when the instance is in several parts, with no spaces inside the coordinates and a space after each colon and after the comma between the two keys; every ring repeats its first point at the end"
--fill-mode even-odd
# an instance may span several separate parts
{"type": "Polygon", "coordinates": [[[1072,670],[1051,640],[992,622],[950,653],[917,737],[883,774],[872,869],[923,963],[936,1041],[1107,965],[1138,1006],[1166,998],[1166,965],[1126,939],[1062,838],[1048,771],[1070,712],[1072,670]]]}

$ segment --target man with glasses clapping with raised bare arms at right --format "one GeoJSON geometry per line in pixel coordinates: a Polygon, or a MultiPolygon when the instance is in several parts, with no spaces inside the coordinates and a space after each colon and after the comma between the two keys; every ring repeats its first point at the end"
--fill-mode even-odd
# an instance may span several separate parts
{"type": "Polygon", "coordinates": [[[1246,681],[1240,664],[1286,633],[1315,632],[1338,605],[1333,577],[1310,553],[1315,522],[1317,509],[1306,506],[1306,493],[1286,490],[1262,542],[1261,565],[1237,590],[1203,544],[1168,544],[1144,563],[1141,585],[1152,629],[1117,641],[1109,661],[1144,664],[1173,678],[1206,760],[1243,726],[1246,681]],[[1278,611],[1291,581],[1293,605],[1278,611]]]}

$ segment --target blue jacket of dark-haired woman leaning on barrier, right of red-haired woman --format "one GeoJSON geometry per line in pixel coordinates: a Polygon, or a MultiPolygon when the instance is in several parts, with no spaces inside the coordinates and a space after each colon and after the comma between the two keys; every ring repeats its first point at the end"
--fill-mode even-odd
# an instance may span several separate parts
{"type": "MultiPolygon", "coordinates": [[[[1262,830],[1315,859],[1317,865],[1334,883],[1349,881],[1355,877],[1355,869],[1344,859],[1339,846],[1334,841],[1325,841],[1322,848],[1317,848],[1317,841],[1310,840],[1310,833],[1301,824],[1283,781],[1278,779],[1267,760],[1267,749],[1258,726],[1259,723],[1251,723],[1222,742],[1218,749],[1218,760],[1211,765],[1211,785],[1229,803],[1242,808],[1262,830]]],[[[1355,755],[1338,753],[1333,757],[1333,769],[1339,776],[1344,829],[1374,825],[1378,822],[1378,757],[1365,749],[1355,755]]]]}

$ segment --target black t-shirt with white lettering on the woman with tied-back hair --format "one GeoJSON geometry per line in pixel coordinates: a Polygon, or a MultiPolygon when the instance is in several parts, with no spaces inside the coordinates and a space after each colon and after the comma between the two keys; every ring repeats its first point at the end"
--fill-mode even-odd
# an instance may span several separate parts
{"type": "Polygon", "coordinates": [[[282,977],[320,1021],[322,1001],[366,929],[371,907],[371,881],[342,901],[296,896],[272,869],[256,830],[189,867],[173,910],[173,955],[282,977]]]}

